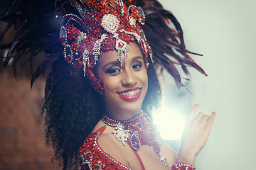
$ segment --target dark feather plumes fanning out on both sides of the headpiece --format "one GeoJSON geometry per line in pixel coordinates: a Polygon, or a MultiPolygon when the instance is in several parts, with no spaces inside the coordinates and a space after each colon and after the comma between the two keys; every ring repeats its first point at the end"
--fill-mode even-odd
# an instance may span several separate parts
{"type": "MultiPolygon", "coordinates": [[[[181,87],[181,76],[176,67],[181,67],[183,72],[189,75],[187,67],[193,67],[202,74],[207,74],[188,55],[199,55],[186,50],[183,40],[183,30],[176,17],[167,11],[156,0],[124,1],[127,5],[142,6],[146,23],[144,33],[151,45],[154,62],[158,63],[174,77],[176,86],[181,87]]],[[[60,45],[58,31],[60,21],[55,18],[55,1],[44,0],[13,0],[6,11],[1,13],[1,21],[8,22],[6,28],[1,31],[0,39],[14,26],[16,34],[11,42],[0,45],[0,49],[9,48],[4,60],[4,67],[14,58],[14,75],[19,59],[28,53],[30,57],[21,64],[31,63],[31,85],[43,74],[58,57],[63,57],[63,48],[60,45]],[[33,59],[40,52],[49,54],[44,62],[36,66],[33,72],[33,59]]]]}

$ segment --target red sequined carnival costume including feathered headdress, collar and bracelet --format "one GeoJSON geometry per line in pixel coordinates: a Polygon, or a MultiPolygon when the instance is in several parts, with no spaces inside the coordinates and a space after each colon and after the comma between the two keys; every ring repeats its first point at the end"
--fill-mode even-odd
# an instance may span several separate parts
{"type": "MultiPolygon", "coordinates": [[[[93,72],[101,52],[116,50],[117,60],[122,67],[126,64],[129,42],[137,42],[142,49],[146,68],[151,63],[159,64],[174,77],[178,87],[183,84],[176,65],[180,65],[185,74],[189,74],[187,67],[194,67],[206,75],[188,56],[192,52],[186,50],[180,24],[158,1],[14,0],[1,14],[1,21],[7,21],[8,25],[0,38],[11,26],[17,30],[11,42],[0,46],[0,49],[9,48],[4,67],[14,58],[16,76],[18,60],[31,53],[26,60],[31,62],[31,86],[40,74],[58,62],[60,57],[64,57],[70,64],[70,74],[82,72],[99,94],[102,94],[102,81],[93,72]],[[57,32],[58,38],[55,36],[57,32]],[[47,54],[46,60],[33,72],[33,58],[42,51],[47,54]]],[[[142,145],[152,146],[159,159],[169,166],[166,159],[160,157],[160,146],[155,141],[156,130],[144,113],[127,121],[112,120],[106,115],[102,120],[116,129],[114,137],[123,145],[127,142],[135,154],[142,145]]],[[[97,139],[104,130],[105,127],[102,127],[86,138],[80,148],[82,166],[87,165],[90,169],[113,169],[112,166],[129,169],[112,159],[97,144],[97,139]]],[[[140,160],[139,155],[136,155],[140,160]]],[[[190,170],[194,167],[174,164],[172,169],[190,170]]]]}

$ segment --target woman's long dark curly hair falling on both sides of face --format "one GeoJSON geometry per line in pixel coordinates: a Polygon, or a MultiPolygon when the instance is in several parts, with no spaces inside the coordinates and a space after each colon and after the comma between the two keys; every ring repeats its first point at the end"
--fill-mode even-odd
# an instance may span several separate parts
{"type": "MultiPolygon", "coordinates": [[[[54,150],[53,164],[78,169],[78,151],[105,111],[105,103],[82,73],[74,74],[64,57],[59,57],[48,75],[43,115],[46,143],[54,150]]],[[[161,89],[154,64],[147,71],[149,88],[142,109],[149,116],[161,101],[161,89]]]]}

